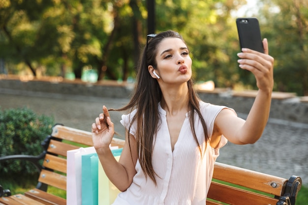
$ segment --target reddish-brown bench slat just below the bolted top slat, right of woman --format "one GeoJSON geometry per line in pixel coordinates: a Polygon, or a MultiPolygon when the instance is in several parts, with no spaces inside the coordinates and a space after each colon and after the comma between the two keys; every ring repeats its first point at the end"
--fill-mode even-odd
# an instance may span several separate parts
{"type": "Polygon", "coordinates": [[[276,205],[277,199],[231,187],[217,182],[211,183],[208,198],[230,205],[276,205]]]}

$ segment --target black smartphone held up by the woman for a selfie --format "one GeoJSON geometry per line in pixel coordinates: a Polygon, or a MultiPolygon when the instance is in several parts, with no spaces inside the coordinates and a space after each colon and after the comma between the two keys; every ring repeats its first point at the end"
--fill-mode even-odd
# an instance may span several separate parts
{"type": "Polygon", "coordinates": [[[259,21],[257,18],[237,18],[241,50],[249,48],[260,53],[264,53],[259,21]]]}

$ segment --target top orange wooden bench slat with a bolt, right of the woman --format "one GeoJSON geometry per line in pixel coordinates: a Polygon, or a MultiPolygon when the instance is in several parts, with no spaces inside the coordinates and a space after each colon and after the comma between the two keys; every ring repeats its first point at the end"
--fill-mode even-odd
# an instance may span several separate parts
{"type": "Polygon", "coordinates": [[[280,196],[287,179],[215,163],[213,178],[280,196]]]}

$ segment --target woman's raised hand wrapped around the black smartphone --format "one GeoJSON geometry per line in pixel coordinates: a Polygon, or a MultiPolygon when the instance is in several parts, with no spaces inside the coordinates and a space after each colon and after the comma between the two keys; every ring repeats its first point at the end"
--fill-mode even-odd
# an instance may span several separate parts
{"type": "Polygon", "coordinates": [[[238,53],[240,67],[253,73],[257,80],[257,87],[263,91],[271,92],[274,86],[273,68],[274,58],[269,56],[268,42],[263,41],[264,54],[243,48],[242,53],[238,53]]]}

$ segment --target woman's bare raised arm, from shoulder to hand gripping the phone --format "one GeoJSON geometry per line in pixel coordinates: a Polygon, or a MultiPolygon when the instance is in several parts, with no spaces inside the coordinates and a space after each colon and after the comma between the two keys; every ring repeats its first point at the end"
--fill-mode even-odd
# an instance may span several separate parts
{"type": "Polygon", "coordinates": [[[244,145],[255,143],[262,135],[269,118],[272,90],[274,85],[274,59],[268,55],[267,40],[263,40],[265,54],[243,49],[238,54],[240,67],[252,72],[259,88],[246,121],[236,117],[228,109],[222,110],[215,120],[217,133],[223,134],[230,142],[244,145]]]}

